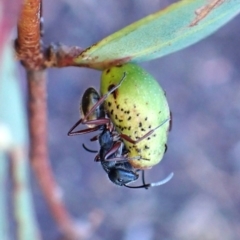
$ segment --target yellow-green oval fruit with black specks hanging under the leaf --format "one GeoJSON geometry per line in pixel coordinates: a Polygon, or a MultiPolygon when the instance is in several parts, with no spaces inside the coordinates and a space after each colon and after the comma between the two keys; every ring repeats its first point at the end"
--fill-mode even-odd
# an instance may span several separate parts
{"type": "Polygon", "coordinates": [[[118,133],[134,141],[165,122],[137,144],[124,140],[128,157],[140,157],[130,160],[130,164],[137,169],[150,168],[159,163],[165,153],[170,110],[158,82],[133,63],[105,69],[101,77],[101,95],[118,85],[124,75],[121,85],[105,100],[104,108],[118,133]]]}

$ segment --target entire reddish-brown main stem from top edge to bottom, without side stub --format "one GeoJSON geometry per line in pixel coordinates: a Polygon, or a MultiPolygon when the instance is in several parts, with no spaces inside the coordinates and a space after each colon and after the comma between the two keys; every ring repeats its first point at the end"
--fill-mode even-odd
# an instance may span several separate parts
{"type": "Polygon", "coordinates": [[[31,165],[50,211],[68,239],[84,234],[72,221],[49,165],[47,150],[46,72],[41,48],[41,0],[24,0],[18,21],[16,52],[27,70],[31,165]]]}

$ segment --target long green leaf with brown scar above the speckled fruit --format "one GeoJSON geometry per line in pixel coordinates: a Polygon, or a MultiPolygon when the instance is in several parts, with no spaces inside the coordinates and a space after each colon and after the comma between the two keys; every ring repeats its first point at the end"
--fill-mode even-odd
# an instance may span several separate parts
{"type": "Polygon", "coordinates": [[[104,38],[76,64],[105,69],[176,52],[209,36],[240,12],[240,0],[182,0],[104,38]]]}

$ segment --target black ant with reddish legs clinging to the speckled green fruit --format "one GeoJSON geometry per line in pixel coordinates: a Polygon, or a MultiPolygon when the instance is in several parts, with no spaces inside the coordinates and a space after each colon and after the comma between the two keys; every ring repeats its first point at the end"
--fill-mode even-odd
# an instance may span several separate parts
{"type": "MultiPolygon", "coordinates": [[[[86,134],[86,133],[90,133],[98,130],[102,131],[100,135],[95,136],[94,138],[91,139],[91,141],[98,140],[101,146],[100,151],[95,157],[95,161],[101,162],[101,165],[105,170],[105,172],[108,174],[109,179],[116,185],[125,186],[128,188],[146,188],[146,189],[149,187],[162,185],[168,182],[173,177],[173,173],[171,173],[167,178],[165,178],[162,181],[146,184],[144,170],[135,169],[129,163],[129,160],[140,159],[141,157],[137,156],[131,159],[128,158],[127,157],[128,151],[122,141],[122,139],[125,139],[129,142],[137,143],[142,139],[146,138],[147,136],[149,136],[153,131],[156,130],[156,128],[149,131],[147,134],[145,134],[143,137],[141,137],[137,141],[133,141],[128,136],[124,134],[118,134],[115,131],[113,123],[108,118],[104,110],[103,102],[112,92],[114,92],[121,85],[124,78],[125,78],[125,73],[123,78],[119,82],[119,84],[113,87],[107,94],[105,94],[102,97],[100,97],[99,93],[92,87],[88,88],[84,92],[82,101],[81,101],[81,112],[83,117],[80,118],[80,120],[78,120],[71,127],[71,129],[68,132],[68,135],[74,136],[74,135],[86,134]],[[76,127],[80,124],[85,124],[88,126],[88,128],[74,131],[76,127]],[[142,185],[140,186],[127,185],[128,183],[131,183],[138,179],[139,171],[142,172],[142,185]]],[[[166,121],[164,121],[164,123],[166,121]]],[[[96,152],[96,151],[89,150],[88,148],[85,147],[85,145],[83,145],[83,147],[85,150],[89,152],[96,152]]]]}

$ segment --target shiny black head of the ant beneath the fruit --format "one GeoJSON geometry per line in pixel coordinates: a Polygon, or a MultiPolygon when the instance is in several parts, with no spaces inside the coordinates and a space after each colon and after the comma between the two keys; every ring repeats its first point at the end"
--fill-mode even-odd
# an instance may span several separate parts
{"type": "Polygon", "coordinates": [[[115,167],[109,171],[108,177],[113,183],[119,186],[125,186],[126,184],[137,180],[138,174],[130,170],[115,167]]]}

